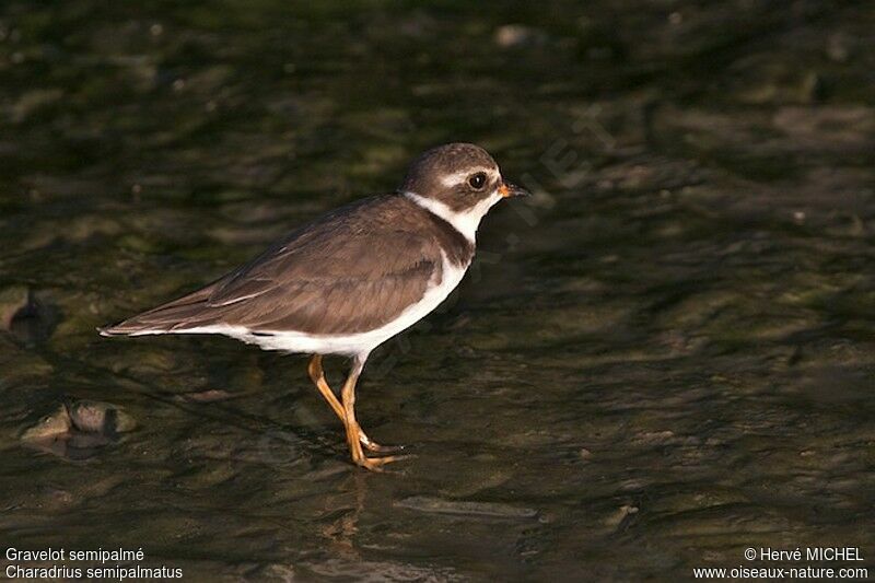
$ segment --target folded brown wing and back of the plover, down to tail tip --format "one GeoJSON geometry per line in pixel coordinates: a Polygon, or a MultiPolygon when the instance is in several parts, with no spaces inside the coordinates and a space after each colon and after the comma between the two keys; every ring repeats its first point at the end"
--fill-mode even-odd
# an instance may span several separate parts
{"type": "Polygon", "coordinates": [[[440,247],[407,210],[396,196],[342,208],[207,288],[103,333],[185,331],[218,324],[311,334],[378,327],[440,278],[440,247]]]}

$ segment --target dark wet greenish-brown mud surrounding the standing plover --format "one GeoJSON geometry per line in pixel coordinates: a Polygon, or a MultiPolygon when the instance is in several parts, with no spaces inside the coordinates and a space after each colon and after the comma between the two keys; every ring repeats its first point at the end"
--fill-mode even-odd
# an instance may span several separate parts
{"type": "Polygon", "coordinates": [[[872,31],[865,2],[3,2],[4,546],[191,580],[871,576],[872,31]],[[96,336],[452,140],[537,195],[369,362],[397,469],[350,466],[303,359],[96,336]],[[820,547],[863,560],[744,555],[820,547]]]}

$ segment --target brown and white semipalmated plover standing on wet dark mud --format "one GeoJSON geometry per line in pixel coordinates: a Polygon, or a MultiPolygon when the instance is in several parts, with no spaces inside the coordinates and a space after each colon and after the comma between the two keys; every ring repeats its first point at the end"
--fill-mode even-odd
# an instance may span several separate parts
{"type": "Polygon", "coordinates": [[[203,289],[115,326],[104,336],[221,334],[264,350],[313,354],[313,383],[343,422],[352,460],[377,469],[399,456],[355,420],[355,383],[371,351],[443,302],[471,264],[480,220],[528,193],[470,143],[421,154],[394,194],[353,202],[275,243],[203,289]],[[352,358],[340,399],[322,358],[352,358]]]}

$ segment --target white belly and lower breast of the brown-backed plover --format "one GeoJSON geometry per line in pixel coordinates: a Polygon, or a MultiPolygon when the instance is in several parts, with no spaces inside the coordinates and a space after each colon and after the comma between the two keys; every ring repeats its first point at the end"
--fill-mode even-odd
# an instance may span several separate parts
{"type": "Polygon", "coordinates": [[[408,306],[397,318],[366,333],[314,335],[300,331],[258,330],[262,334],[270,334],[270,336],[256,336],[252,330],[243,326],[218,325],[178,330],[173,334],[222,334],[246,343],[258,345],[262,350],[311,354],[366,355],[374,348],[409,328],[438,307],[456,289],[467,269],[468,265],[463,267],[453,266],[444,255],[440,283],[432,282],[422,299],[408,306]]]}

